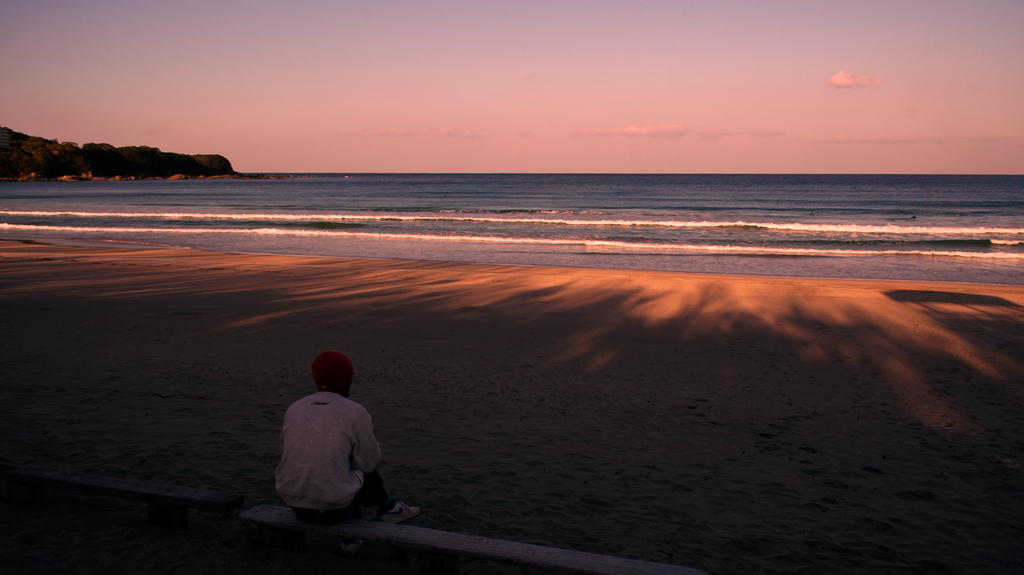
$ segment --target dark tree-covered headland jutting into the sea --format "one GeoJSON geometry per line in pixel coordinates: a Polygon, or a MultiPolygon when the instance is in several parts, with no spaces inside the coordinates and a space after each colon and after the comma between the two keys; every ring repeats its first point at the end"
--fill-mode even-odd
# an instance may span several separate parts
{"type": "Polygon", "coordinates": [[[198,178],[239,176],[223,156],[188,156],[144,145],[58,142],[8,131],[0,149],[0,178],[8,180],[198,178]]]}

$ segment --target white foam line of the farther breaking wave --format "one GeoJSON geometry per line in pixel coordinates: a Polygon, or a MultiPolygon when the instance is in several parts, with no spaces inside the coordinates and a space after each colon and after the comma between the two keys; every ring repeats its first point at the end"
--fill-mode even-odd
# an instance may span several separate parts
{"type": "Polygon", "coordinates": [[[1024,235],[1024,228],[1009,227],[944,227],[944,226],[902,226],[862,224],[808,224],[772,222],[714,222],[678,220],[595,220],[567,218],[521,218],[492,216],[447,216],[442,214],[406,216],[400,214],[204,214],[196,212],[47,212],[47,211],[0,211],[0,216],[33,217],[77,217],[77,218],[124,218],[124,219],[167,219],[207,221],[280,221],[280,222],[372,222],[372,221],[444,221],[468,223],[508,223],[532,225],[567,226],[612,226],[612,227],[669,227],[669,228],[729,228],[749,227],[776,231],[803,231],[818,233],[867,233],[894,235],[1024,235]]]}

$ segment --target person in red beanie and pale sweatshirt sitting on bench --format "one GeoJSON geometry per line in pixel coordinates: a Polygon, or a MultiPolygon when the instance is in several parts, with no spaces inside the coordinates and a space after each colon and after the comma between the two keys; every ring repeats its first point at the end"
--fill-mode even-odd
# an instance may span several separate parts
{"type": "MultiPolygon", "coordinates": [[[[313,359],[316,393],[288,408],[281,431],[281,463],[274,472],[278,494],[307,523],[331,525],[376,506],[378,521],[398,523],[420,507],[393,499],[377,471],[381,447],[367,409],[348,399],[354,369],[348,356],[326,351],[313,359]]],[[[350,556],[362,542],[341,541],[350,556]]]]}

